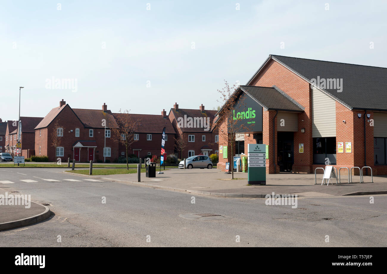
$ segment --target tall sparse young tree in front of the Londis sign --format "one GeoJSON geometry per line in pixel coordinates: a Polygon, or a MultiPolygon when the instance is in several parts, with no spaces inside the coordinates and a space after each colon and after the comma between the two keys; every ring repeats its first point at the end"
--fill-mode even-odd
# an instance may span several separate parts
{"type": "MultiPolygon", "coordinates": [[[[219,131],[219,142],[221,139],[225,140],[228,145],[228,149],[231,149],[231,157],[233,159],[233,148],[235,147],[236,134],[240,132],[248,132],[249,128],[245,123],[241,123],[240,119],[234,117],[234,111],[238,112],[240,109],[244,109],[246,104],[244,103],[244,96],[240,96],[238,92],[238,86],[234,84],[230,86],[226,80],[224,80],[223,89],[218,92],[221,94],[219,103],[223,106],[219,111],[220,119],[217,121],[215,128],[219,131]],[[225,124],[226,128],[222,128],[221,125],[225,124]]],[[[231,179],[234,179],[234,165],[231,165],[231,179]]]]}

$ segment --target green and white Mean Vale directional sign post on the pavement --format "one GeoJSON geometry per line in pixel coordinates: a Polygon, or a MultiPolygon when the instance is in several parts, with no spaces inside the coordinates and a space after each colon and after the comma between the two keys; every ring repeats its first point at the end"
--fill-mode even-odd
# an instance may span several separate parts
{"type": "Polygon", "coordinates": [[[249,185],[266,185],[266,145],[248,144],[247,149],[249,185]]]}

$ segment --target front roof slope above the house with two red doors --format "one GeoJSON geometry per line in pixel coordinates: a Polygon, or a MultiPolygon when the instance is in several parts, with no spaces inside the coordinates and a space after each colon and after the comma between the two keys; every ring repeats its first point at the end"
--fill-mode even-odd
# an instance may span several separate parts
{"type": "Polygon", "coordinates": [[[79,120],[85,127],[90,128],[104,128],[102,120],[106,120],[106,127],[118,128],[116,120],[110,110],[104,112],[103,110],[86,110],[81,108],[72,109],[79,120]]]}

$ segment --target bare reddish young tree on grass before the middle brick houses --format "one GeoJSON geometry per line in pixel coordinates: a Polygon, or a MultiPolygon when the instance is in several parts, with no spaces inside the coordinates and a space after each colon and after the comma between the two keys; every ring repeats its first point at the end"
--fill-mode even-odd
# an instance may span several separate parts
{"type": "Polygon", "coordinates": [[[135,121],[130,117],[128,110],[123,112],[120,110],[120,114],[116,116],[116,120],[118,128],[111,128],[111,131],[113,132],[112,137],[115,142],[118,142],[125,147],[126,167],[127,170],[129,170],[128,149],[136,142],[136,140],[134,140],[134,134],[138,121],[135,121]]]}

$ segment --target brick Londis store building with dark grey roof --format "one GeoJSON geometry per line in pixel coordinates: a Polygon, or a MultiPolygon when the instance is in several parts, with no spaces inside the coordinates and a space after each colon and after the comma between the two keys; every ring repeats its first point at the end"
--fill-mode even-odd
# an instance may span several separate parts
{"type": "MultiPolygon", "coordinates": [[[[313,173],[330,164],[387,174],[387,68],[269,55],[236,95],[235,105],[243,103],[229,115],[245,127],[233,155],[219,135],[217,168],[247,154],[248,144],[266,144],[266,173],[313,173]]],[[[218,115],[227,132],[226,113],[218,115]]]]}

